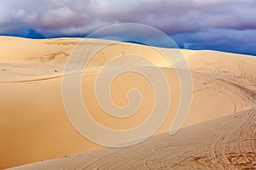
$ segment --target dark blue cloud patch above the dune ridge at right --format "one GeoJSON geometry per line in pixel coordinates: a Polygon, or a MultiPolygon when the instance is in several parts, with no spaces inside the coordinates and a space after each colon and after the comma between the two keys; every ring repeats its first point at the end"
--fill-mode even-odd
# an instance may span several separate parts
{"type": "Polygon", "coordinates": [[[256,54],[256,30],[207,29],[181,33],[172,38],[181,48],[212,49],[239,54],[256,54]]]}

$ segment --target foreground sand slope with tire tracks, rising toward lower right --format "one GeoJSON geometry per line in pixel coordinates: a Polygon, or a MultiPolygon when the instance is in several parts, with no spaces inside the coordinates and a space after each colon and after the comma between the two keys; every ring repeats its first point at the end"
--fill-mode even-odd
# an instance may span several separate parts
{"type": "Polygon", "coordinates": [[[255,122],[254,109],[241,111],[131,147],[93,150],[12,169],[255,169],[255,122]]]}

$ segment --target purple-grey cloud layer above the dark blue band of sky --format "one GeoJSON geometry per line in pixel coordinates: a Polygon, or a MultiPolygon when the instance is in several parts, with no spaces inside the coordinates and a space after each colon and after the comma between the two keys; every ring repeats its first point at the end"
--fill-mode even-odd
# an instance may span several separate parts
{"type": "Polygon", "coordinates": [[[16,31],[15,27],[29,27],[44,32],[62,29],[86,34],[97,26],[123,22],[155,26],[168,34],[202,28],[256,28],[256,3],[251,0],[3,0],[2,4],[1,33],[6,31],[3,27],[10,25],[10,32],[16,31]]]}

